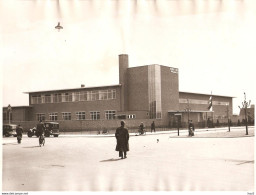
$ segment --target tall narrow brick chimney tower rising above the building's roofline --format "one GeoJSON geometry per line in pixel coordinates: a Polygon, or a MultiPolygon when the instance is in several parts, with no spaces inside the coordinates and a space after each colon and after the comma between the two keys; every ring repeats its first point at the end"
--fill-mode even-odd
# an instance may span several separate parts
{"type": "Polygon", "coordinates": [[[128,55],[119,55],[119,84],[121,84],[121,112],[128,110],[128,55]]]}

